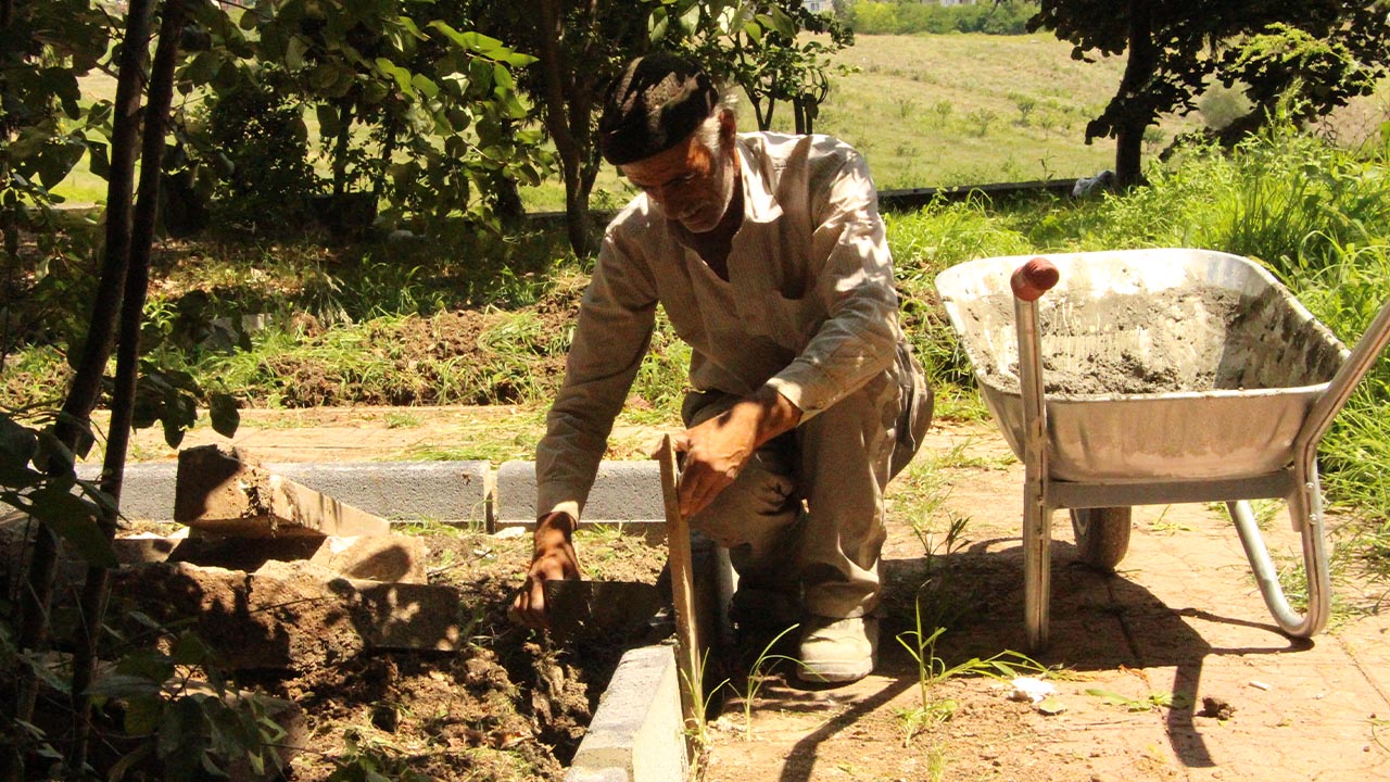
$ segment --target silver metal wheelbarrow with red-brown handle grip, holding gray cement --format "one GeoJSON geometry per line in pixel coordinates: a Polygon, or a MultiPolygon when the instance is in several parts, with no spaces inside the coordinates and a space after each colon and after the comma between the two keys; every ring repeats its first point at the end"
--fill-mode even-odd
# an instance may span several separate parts
{"type": "Polygon", "coordinates": [[[1258,263],[1200,249],[987,257],[937,289],[994,420],[1024,463],[1029,646],[1047,646],[1051,518],[1113,569],[1130,508],[1225,502],[1279,628],[1327,622],[1318,442],[1390,341],[1390,302],[1355,351],[1258,263]],[[1044,295],[1045,294],[1045,295],[1044,295]],[[1250,501],[1284,500],[1308,605],[1290,607],[1250,501]]]}

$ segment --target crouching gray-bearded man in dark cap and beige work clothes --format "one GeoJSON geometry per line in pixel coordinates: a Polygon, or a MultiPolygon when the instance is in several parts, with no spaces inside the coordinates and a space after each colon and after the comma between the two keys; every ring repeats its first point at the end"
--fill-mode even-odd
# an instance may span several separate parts
{"type": "Polygon", "coordinates": [[[860,679],[877,655],[884,487],[931,419],[869,168],[828,136],[738,134],[710,77],[662,53],[627,67],[599,134],[641,193],[580,306],[514,615],[546,626],[545,582],[580,577],[571,533],[660,305],[692,351],[681,512],[730,548],[735,609],[798,607],[802,679],[860,679]]]}

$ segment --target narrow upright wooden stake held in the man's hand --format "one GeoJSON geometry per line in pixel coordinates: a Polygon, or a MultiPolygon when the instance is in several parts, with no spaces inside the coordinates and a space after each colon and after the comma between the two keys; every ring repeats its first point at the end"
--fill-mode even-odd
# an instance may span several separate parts
{"type": "MultiPolygon", "coordinates": [[[[691,530],[681,516],[680,498],[676,494],[677,477],[676,447],[671,436],[662,440],[657,454],[662,462],[662,498],[666,502],[666,545],[671,564],[671,603],[676,607],[676,667],[681,673],[681,711],[685,718],[687,735],[695,735],[703,714],[698,712],[705,703],[701,693],[699,632],[695,621],[695,575],[691,565],[691,530]]],[[[687,747],[692,744],[687,742],[687,747]]]]}

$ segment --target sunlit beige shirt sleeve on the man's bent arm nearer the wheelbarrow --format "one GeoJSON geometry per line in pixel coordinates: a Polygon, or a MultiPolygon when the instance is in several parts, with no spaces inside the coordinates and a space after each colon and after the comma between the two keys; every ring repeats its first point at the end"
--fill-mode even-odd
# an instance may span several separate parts
{"type": "Polygon", "coordinates": [[[813,295],[828,317],[795,360],[767,384],[801,408],[802,420],[853,392],[892,365],[901,340],[892,256],[878,196],[863,159],[842,163],[808,185],[816,205],[812,257],[824,257],[813,295]]]}

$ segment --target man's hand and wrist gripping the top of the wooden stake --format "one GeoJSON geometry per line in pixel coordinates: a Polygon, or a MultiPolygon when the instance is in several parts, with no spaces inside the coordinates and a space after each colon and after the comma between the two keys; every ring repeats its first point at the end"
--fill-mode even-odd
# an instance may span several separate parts
{"type": "Polygon", "coordinates": [[[723,413],[674,436],[676,451],[685,454],[677,491],[681,515],[699,513],[764,442],[795,429],[801,409],[771,387],[739,399],[723,413]]]}

